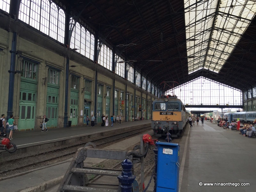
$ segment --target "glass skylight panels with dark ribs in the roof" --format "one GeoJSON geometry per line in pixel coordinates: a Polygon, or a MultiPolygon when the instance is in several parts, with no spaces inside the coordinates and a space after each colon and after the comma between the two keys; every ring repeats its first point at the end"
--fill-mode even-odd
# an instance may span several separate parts
{"type": "Polygon", "coordinates": [[[188,74],[219,73],[256,13],[255,0],[184,0],[188,74]]]}

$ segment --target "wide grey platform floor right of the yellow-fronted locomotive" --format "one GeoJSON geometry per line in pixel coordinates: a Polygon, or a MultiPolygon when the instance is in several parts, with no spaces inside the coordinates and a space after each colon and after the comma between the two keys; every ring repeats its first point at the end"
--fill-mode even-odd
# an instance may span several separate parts
{"type": "Polygon", "coordinates": [[[193,125],[180,142],[180,192],[254,192],[255,146],[256,138],[216,123],[193,125]]]}

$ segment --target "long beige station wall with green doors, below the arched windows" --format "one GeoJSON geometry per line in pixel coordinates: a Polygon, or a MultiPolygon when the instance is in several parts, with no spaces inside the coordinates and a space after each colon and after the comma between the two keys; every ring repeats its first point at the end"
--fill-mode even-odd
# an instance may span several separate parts
{"type": "MultiPolygon", "coordinates": [[[[142,111],[139,111],[142,100],[144,106],[141,110],[151,109],[148,106],[156,96],[99,64],[95,64],[81,54],[68,50],[63,44],[36,29],[14,21],[6,15],[1,14],[1,16],[4,17],[4,22],[0,23],[0,83],[2,90],[0,113],[7,114],[10,51],[12,50],[13,32],[16,32],[15,71],[21,73],[14,75],[12,114],[20,131],[40,129],[40,122],[44,115],[50,119],[47,124],[48,128],[63,127],[67,58],[70,58],[68,120],[72,121],[72,126],[85,125],[86,115],[95,115],[95,111],[98,123],[101,122],[102,114],[111,116],[114,113],[121,115],[122,121],[131,121],[132,115],[142,116],[142,111]],[[98,89],[99,85],[101,92],[99,94],[99,90],[97,90],[95,96],[95,88],[98,89]],[[116,96],[115,91],[118,91],[116,96]],[[95,110],[95,98],[97,98],[96,106],[99,110],[95,110]],[[145,106],[147,100],[148,106],[145,106]],[[113,106],[115,106],[114,111],[113,106]],[[98,113],[98,111],[100,112],[98,113]]],[[[148,114],[151,112],[148,111],[145,118],[150,118],[148,114]]]]}

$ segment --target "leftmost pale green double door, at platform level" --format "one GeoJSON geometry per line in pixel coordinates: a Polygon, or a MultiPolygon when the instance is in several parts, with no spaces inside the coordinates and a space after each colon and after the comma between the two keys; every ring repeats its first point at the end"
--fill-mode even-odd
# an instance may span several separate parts
{"type": "Polygon", "coordinates": [[[18,120],[19,130],[34,130],[35,127],[35,107],[34,104],[20,105],[20,118],[18,120]]]}

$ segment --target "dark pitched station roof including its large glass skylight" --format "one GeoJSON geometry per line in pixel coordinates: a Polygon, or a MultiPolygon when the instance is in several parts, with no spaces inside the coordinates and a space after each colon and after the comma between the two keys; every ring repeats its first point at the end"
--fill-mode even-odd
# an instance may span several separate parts
{"type": "Polygon", "coordinates": [[[240,90],[256,84],[254,0],[53,2],[164,91],[173,83],[162,82],[183,84],[200,76],[240,90]]]}

